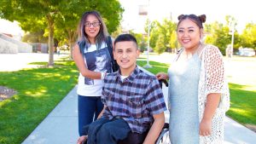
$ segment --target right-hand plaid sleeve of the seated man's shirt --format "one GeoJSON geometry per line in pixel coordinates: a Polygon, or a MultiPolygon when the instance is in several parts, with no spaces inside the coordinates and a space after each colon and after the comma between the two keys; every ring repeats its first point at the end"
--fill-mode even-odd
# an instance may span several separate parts
{"type": "Polygon", "coordinates": [[[160,84],[154,76],[150,78],[146,91],[146,107],[152,115],[166,111],[166,102],[160,84]]]}

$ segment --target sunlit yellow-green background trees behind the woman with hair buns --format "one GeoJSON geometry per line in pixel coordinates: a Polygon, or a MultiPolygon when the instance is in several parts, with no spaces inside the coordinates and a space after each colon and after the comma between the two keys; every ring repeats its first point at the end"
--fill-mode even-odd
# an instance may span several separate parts
{"type": "MultiPolygon", "coordinates": [[[[204,38],[202,39],[204,43],[216,45],[225,55],[225,49],[231,43],[231,21],[235,24],[234,51],[241,47],[256,49],[256,38],[254,37],[256,35],[256,24],[248,23],[240,34],[236,30],[236,19],[230,15],[226,15],[226,23],[224,24],[218,21],[204,24],[204,38]]],[[[162,53],[180,47],[177,43],[176,22],[166,19],[162,22],[154,20],[150,24],[150,48],[154,49],[155,52],[162,53]]],[[[145,22],[144,30],[145,33],[148,33],[148,20],[145,22]]]]}

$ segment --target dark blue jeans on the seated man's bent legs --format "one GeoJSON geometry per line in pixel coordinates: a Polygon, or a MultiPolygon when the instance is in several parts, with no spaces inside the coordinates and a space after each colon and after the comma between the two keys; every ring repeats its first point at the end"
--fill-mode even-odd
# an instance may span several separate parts
{"type": "Polygon", "coordinates": [[[122,118],[99,118],[89,126],[89,144],[117,144],[124,140],[131,131],[129,125],[122,118]]]}

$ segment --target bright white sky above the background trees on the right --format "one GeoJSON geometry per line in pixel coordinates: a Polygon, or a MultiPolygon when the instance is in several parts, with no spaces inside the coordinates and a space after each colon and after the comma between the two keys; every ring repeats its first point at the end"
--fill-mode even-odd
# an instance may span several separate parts
{"type": "MultiPolygon", "coordinates": [[[[147,16],[139,15],[139,5],[148,5],[148,0],[119,0],[125,9],[122,26],[135,32],[143,31],[147,16]]],[[[246,23],[256,23],[253,0],[149,0],[149,19],[162,21],[171,18],[177,21],[179,14],[206,14],[206,23],[225,23],[225,16],[237,20],[236,29],[241,32],[246,23]]]]}

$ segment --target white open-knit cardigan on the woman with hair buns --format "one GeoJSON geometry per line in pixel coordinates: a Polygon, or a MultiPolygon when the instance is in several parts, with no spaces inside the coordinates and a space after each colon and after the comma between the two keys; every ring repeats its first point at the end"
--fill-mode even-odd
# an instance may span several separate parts
{"type": "MultiPolygon", "coordinates": [[[[202,46],[204,48],[200,55],[201,74],[198,86],[198,111],[200,122],[207,104],[207,95],[220,93],[221,101],[212,118],[212,134],[209,136],[200,136],[200,144],[221,144],[224,142],[225,112],[230,108],[230,90],[225,76],[223,55],[220,53],[219,49],[213,45],[202,46]]],[[[174,60],[177,60],[177,57],[174,60]]],[[[172,111],[170,110],[170,112],[172,111]]]]}

